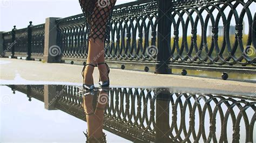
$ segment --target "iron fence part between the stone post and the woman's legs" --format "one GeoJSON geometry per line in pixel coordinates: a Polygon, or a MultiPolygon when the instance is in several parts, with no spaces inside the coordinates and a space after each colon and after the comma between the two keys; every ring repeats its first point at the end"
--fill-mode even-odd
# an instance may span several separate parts
{"type": "Polygon", "coordinates": [[[63,58],[85,58],[87,43],[85,20],[82,15],[56,20],[58,23],[57,44],[62,49],[63,58]]]}

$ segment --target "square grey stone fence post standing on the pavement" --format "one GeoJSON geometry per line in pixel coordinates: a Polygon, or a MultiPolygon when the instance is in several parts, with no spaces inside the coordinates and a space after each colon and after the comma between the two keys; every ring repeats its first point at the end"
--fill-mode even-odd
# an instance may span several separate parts
{"type": "Polygon", "coordinates": [[[57,24],[56,17],[45,19],[44,33],[44,61],[60,62],[61,49],[57,46],[57,24]]]}

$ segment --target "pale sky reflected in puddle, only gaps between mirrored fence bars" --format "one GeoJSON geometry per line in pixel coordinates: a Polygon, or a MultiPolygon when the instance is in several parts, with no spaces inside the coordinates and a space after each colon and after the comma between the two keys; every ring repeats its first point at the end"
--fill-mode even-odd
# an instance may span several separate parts
{"type": "MultiPolygon", "coordinates": [[[[138,92],[140,93],[140,90],[138,90],[138,92]]],[[[145,92],[144,93],[144,95],[147,95],[147,92],[144,90],[143,92],[145,92]]],[[[159,92],[159,91],[156,91],[156,92],[159,92]]],[[[133,93],[134,93],[134,91],[133,91],[133,93]]],[[[151,95],[154,95],[153,94],[153,92],[151,91],[151,95]]],[[[178,95],[178,94],[177,94],[178,95]]],[[[196,94],[196,96],[198,97],[199,95],[198,94],[196,94]]],[[[217,96],[217,95],[215,95],[215,96],[217,96]]],[[[177,100],[178,100],[178,98],[177,98],[177,96],[176,95],[173,95],[172,96],[172,98],[173,98],[173,101],[174,102],[177,102],[177,100]]],[[[180,98],[181,99],[181,101],[182,101],[182,103],[183,103],[183,105],[184,105],[184,103],[185,103],[185,97],[181,97],[180,98]]],[[[233,99],[235,99],[235,100],[237,100],[237,101],[240,101],[240,99],[238,99],[238,98],[233,98],[233,99]]],[[[131,100],[131,99],[130,99],[131,100]]],[[[119,101],[120,101],[120,99],[119,99],[119,101]]],[[[194,103],[194,100],[191,98],[190,100],[189,100],[191,103],[194,103]]],[[[252,101],[251,101],[252,102],[252,101]]],[[[137,98],[135,98],[135,102],[134,103],[137,103],[137,98]]],[[[163,103],[163,102],[161,102],[161,103],[163,103]]],[[[201,108],[203,109],[204,108],[204,105],[205,105],[205,101],[204,101],[204,99],[203,98],[201,98],[200,100],[199,100],[199,103],[200,103],[200,105],[201,105],[201,108]]],[[[142,105],[144,105],[144,104],[146,104],[145,102],[143,102],[142,101],[142,105]]],[[[157,102],[154,102],[154,105],[156,106],[156,104],[157,104],[157,102]]],[[[177,104],[177,103],[176,103],[177,104]]],[[[213,102],[210,102],[209,103],[209,105],[212,107],[212,110],[214,109],[214,107],[216,106],[216,104],[215,103],[213,103],[213,102]]],[[[114,106],[116,106],[116,104],[114,104],[114,106]]],[[[130,106],[132,106],[132,104],[130,103],[130,106]]],[[[193,106],[193,104],[192,104],[192,106],[193,106]]],[[[125,108],[125,107],[124,107],[125,108]]],[[[148,115],[148,118],[150,118],[150,111],[151,111],[151,109],[150,109],[150,101],[148,101],[147,102],[147,115],[148,115]]],[[[223,112],[224,113],[226,113],[227,112],[227,106],[225,106],[225,105],[221,105],[221,109],[223,110],[223,112]]],[[[137,112],[137,108],[135,108],[134,109],[135,110],[135,112],[137,112]]],[[[184,110],[184,109],[183,109],[184,110]]],[[[236,117],[237,117],[237,115],[238,115],[238,113],[239,113],[239,109],[237,108],[237,107],[234,107],[233,108],[233,110],[234,110],[234,113],[235,113],[235,115],[236,115],[236,117]]],[[[185,126],[186,126],[186,130],[188,131],[188,128],[190,127],[190,110],[188,110],[188,106],[186,106],[186,113],[185,113],[185,116],[183,116],[183,114],[181,114],[181,109],[180,109],[180,106],[178,105],[177,106],[177,126],[178,127],[180,127],[181,126],[181,118],[185,118],[184,119],[184,121],[185,121],[185,126]]],[[[155,111],[154,111],[155,113],[157,112],[156,111],[156,109],[155,109],[155,111]]],[[[170,102],[170,104],[169,104],[169,113],[170,113],[170,120],[169,120],[169,124],[170,125],[172,125],[173,123],[172,123],[172,112],[173,112],[173,106],[172,106],[172,103],[170,102]]],[[[246,113],[247,113],[247,117],[248,117],[248,119],[249,119],[249,121],[251,121],[252,120],[252,116],[253,116],[253,113],[254,113],[254,111],[252,110],[252,108],[249,108],[249,109],[247,109],[247,111],[246,111],[246,113]]],[[[194,124],[194,128],[195,128],[195,131],[196,131],[196,133],[198,133],[198,131],[199,131],[199,126],[200,126],[200,122],[199,122],[199,112],[198,112],[198,110],[196,110],[196,112],[194,113],[194,116],[195,116],[195,124],[194,124]]],[[[155,119],[156,118],[158,118],[158,117],[156,117],[155,116],[155,119]]],[[[219,115],[219,113],[217,113],[217,115],[216,115],[216,117],[215,117],[215,119],[216,119],[216,125],[215,125],[215,127],[216,127],[216,133],[215,133],[215,137],[217,138],[217,140],[218,139],[220,139],[220,131],[221,131],[221,120],[220,120],[220,115],[219,115]]],[[[134,121],[134,119],[132,119],[132,121],[134,121]]],[[[144,125],[146,126],[146,123],[144,123],[144,125]]],[[[151,126],[152,128],[153,128],[153,126],[151,126]]],[[[206,136],[208,137],[208,135],[210,134],[210,115],[209,115],[209,113],[206,111],[206,113],[205,113],[205,123],[204,123],[204,128],[205,128],[205,134],[206,134],[206,136]]],[[[228,118],[228,120],[227,120],[227,128],[226,128],[226,131],[227,131],[227,141],[228,142],[232,142],[232,136],[233,136],[233,123],[232,123],[232,119],[231,119],[231,117],[229,116],[229,118],[228,118]]],[[[240,142],[245,142],[245,132],[246,131],[246,129],[245,129],[245,122],[244,122],[244,119],[242,118],[241,119],[241,121],[240,121],[240,142]]],[[[256,132],[256,125],[254,124],[254,128],[253,128],[253,132],[255,133],[256,132]]],[[[173,135],[176,135],[176,132],[173,130],[172,131],[172,134],[173,135]]],[[[181,133],[181,138],[185,138],[185,135],[183,134],[183,133],[181,133]]],[[[192,137],[190,136],[190,139],[191,139],[192,137]]],[[[255,141],[256,140],[256,135],[254,135],[253,136],[253,140],[255,141]]],[[[192,139],[192,141],[193,141],[193,139],[192,139]]],[[[201,136],[201,138],[199,139],[199,142],[204,142],[204,140],[203,140],[203,138],[202,138],[202,136],[201,136]]]]}

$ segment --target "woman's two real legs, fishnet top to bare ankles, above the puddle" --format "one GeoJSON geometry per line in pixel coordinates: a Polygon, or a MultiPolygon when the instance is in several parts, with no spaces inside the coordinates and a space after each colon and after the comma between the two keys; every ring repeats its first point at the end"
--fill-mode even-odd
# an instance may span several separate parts
{"type": "MultiPolygon", "coordinates": [[[[87,28],[89,28],[89,51],[86,63],[105,62],[104,41],[106,30],[111,19],[116,0],[79,0],[83,10],[87,28]],[[94,4],[93,4],[94,3],[94,4]]],[[[84,83],[93,84],[93,67],[87,66],[84,70],[84,83]]],[[[107,68],[104,65],[98,66],[100,73],[100,80],[106,81],[107,68]]]]}

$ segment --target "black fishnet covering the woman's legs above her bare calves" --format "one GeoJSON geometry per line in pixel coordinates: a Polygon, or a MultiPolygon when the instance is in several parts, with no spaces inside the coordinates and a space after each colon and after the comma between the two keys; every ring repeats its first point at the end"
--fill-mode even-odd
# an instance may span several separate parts
{"type": "Polygon", "coordinates": [[[87,40],[107,40],[110,20],[116,0],[79,0],[88,28],[87,40]]]}

